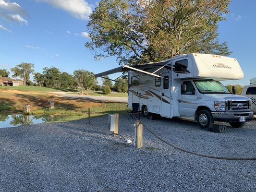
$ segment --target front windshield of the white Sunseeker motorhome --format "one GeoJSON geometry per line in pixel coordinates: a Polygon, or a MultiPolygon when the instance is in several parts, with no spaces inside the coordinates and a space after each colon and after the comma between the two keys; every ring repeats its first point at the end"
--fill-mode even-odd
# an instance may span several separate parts
{"type": "Polygon", "coordinates": [[[218,81],[214,80],[195,80],[195,86],[203,94],[231,94],[229,90],[218,81]]]}

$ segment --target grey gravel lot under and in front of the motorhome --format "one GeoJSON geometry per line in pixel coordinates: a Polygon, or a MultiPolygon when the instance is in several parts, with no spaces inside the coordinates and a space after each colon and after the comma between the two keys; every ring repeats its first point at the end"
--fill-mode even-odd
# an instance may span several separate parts
{"type": "MultiPolygon", "coordinates": [[[[144,130],[144,148],[108,135],[107,116],[0,129],[0,191],[253,192],[256,161],[194,156],[144,130]]],[[[256,120],[226,133],[185,120],[145,120],[163,139],[203,154],[256,156],[256,120]]],[[[133,139],[132,120],[120,133],[133,139]]]]}

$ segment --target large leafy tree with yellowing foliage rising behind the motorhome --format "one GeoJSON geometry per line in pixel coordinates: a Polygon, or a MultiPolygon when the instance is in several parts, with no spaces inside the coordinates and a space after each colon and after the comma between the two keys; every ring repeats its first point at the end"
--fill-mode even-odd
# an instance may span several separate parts
{"type": "Polygon", "coordinates": [[[140,64],[189,52],[229,55],[218,23],[230,0],[101,0],[87,24],[95,58],[140,64]]]}

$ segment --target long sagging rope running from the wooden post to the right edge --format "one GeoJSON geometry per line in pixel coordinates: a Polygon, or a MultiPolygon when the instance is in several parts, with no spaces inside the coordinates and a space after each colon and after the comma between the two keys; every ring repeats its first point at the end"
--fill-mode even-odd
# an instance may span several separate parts
{"type": "Polygon", "coordinates": [[[180,151],[183,151],[185,153],[189,153],[195,156],[202,156],[202,157],[207,157],[207,158],[213,158],[213,159],[223,159],[223,160],[237,160],[237,161],[246,161],[246,160],[256,160],[256,157],[226,157],[226,156],[210,156],[210,155],[204,155],[204,154],[200,154],[200,153],[195,153],[192,151],[189,151],[187,149],[183,149],[179,146],[176,146],[174,144],[171,144],[165,140],[163,140],[162,138],[160,138],[156,133],[154,133],[153,131],[151,131],[141,120],[139,120],[139,122],[146,128],[146,130],[148,132],[150,132],[151,134],[153,134],[155,137],[157,137],[160,141],[162,141],[165,144],[168,144],[170,146],[172,146],[175,149],[178,149],[180,151]]]}

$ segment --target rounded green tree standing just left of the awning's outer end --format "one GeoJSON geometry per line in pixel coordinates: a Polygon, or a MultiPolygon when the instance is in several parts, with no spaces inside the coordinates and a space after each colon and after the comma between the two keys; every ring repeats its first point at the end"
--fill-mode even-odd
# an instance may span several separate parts
{"type": "Polygon", "coordinates": [[[87,90],[88,95],[89,90],[98,83],[93,72],[88,72],[85,70],[75,70],[73,75],[77,85],[80,86],[82,89],[82,95],[84,89],[87,90]]]}

